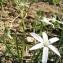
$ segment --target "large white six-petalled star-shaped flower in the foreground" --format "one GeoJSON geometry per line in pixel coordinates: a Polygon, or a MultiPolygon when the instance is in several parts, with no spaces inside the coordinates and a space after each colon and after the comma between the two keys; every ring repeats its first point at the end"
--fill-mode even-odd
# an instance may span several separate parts
{"type": "Polygon", "coordinates": [[[57,48],[52,45],[52,43],[55,43],[56,41],[59,40],[57,37],[54,37],[54,38],[51,38],[48,40],[48,36],[45,32],[42,33],[42,38],[39,35],[37,35],[36,33],[30,33],[30,34],[37,41],[40,42],[40,43],[36,44],[35,46],[33,46],[32,48],[30,48],[30,50],[36,50],[36,49],[43,47],[42,63],[47,63],[49,48],[53,52],[55,52],[59,57],[61,57],[57,48]]]}

